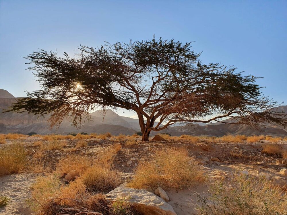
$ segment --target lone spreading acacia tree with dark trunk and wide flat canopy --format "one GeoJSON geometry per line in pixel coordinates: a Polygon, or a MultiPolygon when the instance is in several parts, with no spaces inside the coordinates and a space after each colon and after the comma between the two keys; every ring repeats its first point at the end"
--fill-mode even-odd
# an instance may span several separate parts
{"type": "Polygon", "coordinates": [[[235,67],[203,64],[191,43],[155,39],[99,48],[78,47],[71,58],[39,50],[26,58],[41,90],[27,93],[8,111],[51,114],[51,127],[64,118],[80,126],[95,108],[133,110],[148,141],[151,131],[176,122],[233,121],[259,127],[266,122],[286,126],[286,114],[262,95],[257,77],[235,67]]]}

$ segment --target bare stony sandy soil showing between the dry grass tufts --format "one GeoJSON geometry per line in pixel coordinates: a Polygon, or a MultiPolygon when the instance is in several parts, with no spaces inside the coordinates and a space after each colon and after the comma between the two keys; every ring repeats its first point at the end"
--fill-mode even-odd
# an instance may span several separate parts
{"type": "MultiPolygon", "coordinates": [[[[26,138],[24,143],[27,150],[37,151],[38,148],[32,146],[32,144],[38,140],[40,140],[38,137],[26,138]]],[[[280,156],[261,153],[262,142],[218,143],[205,142],[202,140],[198,143],[189,143],[188,141],[170,140],[169,142],[141,142],[131,148],[124,145],[125,140],[107,138],[106,140],[88,140],[89,143],[87,147],[73,150],[77,140],[65,141],[67,141],[68,144],[62,150],[47,150],[45,152],[44,159],[49,168],[54,169],[55,164],[67,155],[78,154],[94,159],[107,147],[120,143],[122,144],[122,148],[117,155],[115,155],[113,166],[120,172],[133,173],[139,161],[152,159],[154,152],[159,149],[165,147],[185,147],[189,150],[190,156],[195,158],[204,156],[209,159],[213,157],[220,159],[219,163],[215,162],[203,166],[209,178],[221,180],[220,174],[222,172],[233,172],[243,169],[248,170],[252,175],[256,175],[257,171],[252,167],[256,164],[261,167],[261,174],[268,174],[271,179],[273,178],[278,181],[282,186],[287,183],[287,176],[279,174],[282,167],[275,165],[276,159],[279,159],[280,156]],[[234,149],[235,147],[237,148],[234,149]],[[136,160],[127,166],[127,161],[133,157],[136,160]]],[[[287,149],[286,141],[281,141],[278,144],[281,144],[282,148],[287,149]]],[[[26,202],[31,198],[30,186],[34,182],[35,177],[36,174],[28,171],[20,174],[0,176],[0,195],[11,198],[8,206],[0,209],[0,214],[33,214],[33,212],[29,210],[26,202]]],[[[225,180],[228,181],[230,178],[226,177],[225,180]]],[[[170,190],[167,192],[171,199],[169,204],[178,215],[196,214],[198,206],[197,195],[206,196],[208,194],[206,193],[207,189],[207,185],[199,184],[185,190],[170,190]]]]}

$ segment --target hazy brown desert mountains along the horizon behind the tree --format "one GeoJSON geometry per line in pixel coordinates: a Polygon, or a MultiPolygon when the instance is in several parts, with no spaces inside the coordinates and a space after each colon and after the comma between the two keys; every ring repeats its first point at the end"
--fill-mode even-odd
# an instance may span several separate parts
{"type": "MultiPolygon", "coordinates": [[[[87,133],[105,133],[110,132],[113,135],[118,134],[134,134],[140,131],[137,119],[119,116],[112,110],[107,110],[103,119],[103,111],[97,110],[91,113],[91,120],[83,122],[81,129],[77,130],[76,127],[71,125],[71,122],[65,120],[61,127],[56,130],[50,130],[47,120],[49,116],[38,117],[34,114],[24,113],[2,113],[3,109],[7,109],[17,99],[6,90],[0,89],[0,133],[22,133],[28,134],[29,132],[36,132],[37,134],[59,133],[67,134],[71,132],[87,132],[87,133]]],[[[279,106],[276,108],[278,111],[287,112],[287,105],[279,106]]],[[[287,129],[279,126],[267,125],[260,131],[251,129],[244,124],[176,124],[170,126],[162,132],[169,133],[174,136],[181,134],[190,135],[206,135],[206,136],[223,136],[226,134],[246,134],[246,135],[273,135],[273,136],[287,136],[287,129]],[[180,126],[179,126],[180,125],[180,126]]],[[[152,133],[154,134],[154,133],[152,133]]]]}

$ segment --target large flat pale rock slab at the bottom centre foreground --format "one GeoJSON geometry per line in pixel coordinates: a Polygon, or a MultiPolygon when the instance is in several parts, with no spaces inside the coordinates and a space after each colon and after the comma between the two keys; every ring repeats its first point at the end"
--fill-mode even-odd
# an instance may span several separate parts
{"type": "Polygon", "coordinates": [[[125,198],[131,204],[135,204],[143,215],[177,215],[172,206],[162,198],[144,189],[129,188],[127,183],[123,183],[105,196],[111,201],[125,198]]]}

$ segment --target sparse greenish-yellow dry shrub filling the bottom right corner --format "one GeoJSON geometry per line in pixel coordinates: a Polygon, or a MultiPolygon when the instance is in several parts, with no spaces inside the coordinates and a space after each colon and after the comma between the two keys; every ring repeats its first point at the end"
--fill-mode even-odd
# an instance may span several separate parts
{"type": "Polygon", "coordinates": [[[287,214],[287,196],[272,181],[255,177],[237,176],[229,184],[211,183],[206,198],[199,197],[202,203],[200,214],[287,214]]]}

